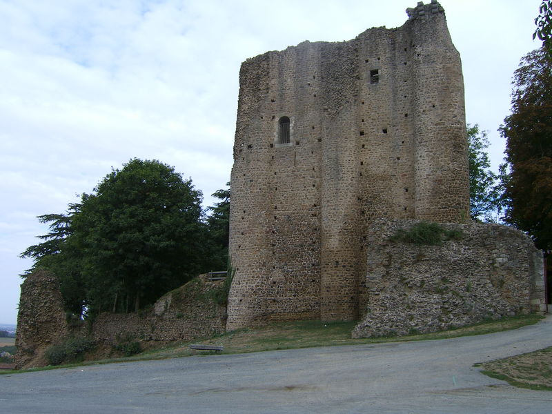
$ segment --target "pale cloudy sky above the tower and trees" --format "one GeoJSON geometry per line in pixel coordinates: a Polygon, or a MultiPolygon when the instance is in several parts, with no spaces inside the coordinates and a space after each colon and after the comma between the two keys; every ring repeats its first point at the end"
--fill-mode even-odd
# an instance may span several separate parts
{"type": "MultiPolygon", "coordinates": [[[[430,0],[426,0],[428,3],[430,0]]],[[[210,206],[230,179],[239,65],[304,40],[406,21],[416,0],[0,0],[0,323],[14,324],[19,254],[111,167],[159,159],[210,206]]],[[[466,117],[504,143],[513,71],[540,0],[442,0],[466,117]]]]}

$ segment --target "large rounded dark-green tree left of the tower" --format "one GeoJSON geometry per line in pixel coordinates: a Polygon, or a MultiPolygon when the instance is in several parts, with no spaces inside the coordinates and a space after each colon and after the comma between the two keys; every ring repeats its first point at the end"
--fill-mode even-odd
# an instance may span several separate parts
{"type": "Polygon", "coordinates": [[[52,270],[66,303],[79,297],[88,314],[136,311],[208,267],[201,191],[156,160],[131,159],[70,214],[39,219],[52,231],[23,255],[52,270]]]}

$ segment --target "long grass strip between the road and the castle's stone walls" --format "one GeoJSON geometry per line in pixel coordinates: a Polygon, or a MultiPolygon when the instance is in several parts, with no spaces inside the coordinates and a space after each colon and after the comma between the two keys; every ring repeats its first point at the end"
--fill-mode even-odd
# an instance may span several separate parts
{"type": "Polygon", "coordinates": [[[466,326],[449,331],[429,333],[423,335],[408,335],[403,337],[378,337],[365,339],[351,339],[351,331],[357,322],[320,322],[299,321],[279,322],[257,328],[244,328],[236,331],[215,335],[213,337],[196,338],[190,342],[179,342],[162,348],[145,351],[132,357],[116,359],[103,359],[99,361],[83,362],[62,366],[48,366],[45,368],[33,368],[21,371],[5,371],[0,374],[12,374],[19,372],[41,371],[54,368],[70,368],[75,366],[92,364],[110,364],[116,362],[129,362],[151,359],[166,359],[173,357],[186,357],[190,355],[211,355],[214,351],[192,351],[190,344],[209,344],[224,346],[224,354],[250,353],[261,351],[274,351],[279,349],[309,348],[313,346],[336,346],[375,344],[381,342],[406,342],[434,339],[449,339],[466,335],[483,335],[521,326],[537,323],[542,317],[538,315],[522,315],[509,317],[499,321],[487,321],[481,324],[466,326]]]}

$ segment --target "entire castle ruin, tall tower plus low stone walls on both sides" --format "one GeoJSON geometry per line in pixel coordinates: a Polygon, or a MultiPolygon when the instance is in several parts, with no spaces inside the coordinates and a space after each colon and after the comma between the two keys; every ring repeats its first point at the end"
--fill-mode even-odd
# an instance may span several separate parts
{"type": "Polygon", "coordinates": [[[110,350],[125,335],[179,341],[278,320],[356,320],[351,335],[373,337],[546,313],[542,252],[514,228],[469,221],[462,68],[444,10],[406,12],[400,28],[242,64],[227,308],[205,306],[221,285],[203,275],[146,315],[73,324],[39,270],[21,286],[17,367],[48,364],[68,336],[110,350]],[[458,237],[396,241],[420,220],[458,237]]]}

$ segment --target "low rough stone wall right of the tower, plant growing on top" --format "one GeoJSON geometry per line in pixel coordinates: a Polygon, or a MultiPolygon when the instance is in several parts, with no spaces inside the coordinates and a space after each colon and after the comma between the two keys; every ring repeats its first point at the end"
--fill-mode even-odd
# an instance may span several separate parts
{"type": "Polygon", "coordinates": [[[353,337],[428,333],[486,318],[545,313],[542,252],[497,224],[442,224],[463,237],[440,246],[392,242],[416,221],[377,219],[368,231],[365,315],[353,337]]]}

